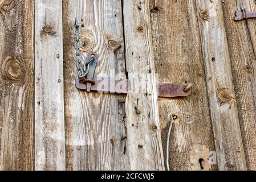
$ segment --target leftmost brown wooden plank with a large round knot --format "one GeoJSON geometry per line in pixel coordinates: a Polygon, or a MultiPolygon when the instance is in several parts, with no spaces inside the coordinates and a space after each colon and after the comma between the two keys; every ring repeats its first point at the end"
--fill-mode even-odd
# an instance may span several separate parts
{"type": "Polygon", "coordinates": [[[0,170],[34,168],[34,1],[0,1],[0,170]]]}

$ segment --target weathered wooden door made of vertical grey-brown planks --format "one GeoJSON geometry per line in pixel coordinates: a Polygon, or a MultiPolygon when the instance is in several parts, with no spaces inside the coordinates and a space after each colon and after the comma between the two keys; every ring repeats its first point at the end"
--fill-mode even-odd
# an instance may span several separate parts
{"type": "Polygon", "coordinates": [[[255,2],[0,0],[0,169],[256,169],[256,23],[235,22],[242,9],[255,2]],[[76,88],[75,18],[95,75],[147,75],[146,92],[76,88]],[[157,98],[156,78],[193,93],[157,98]]]}

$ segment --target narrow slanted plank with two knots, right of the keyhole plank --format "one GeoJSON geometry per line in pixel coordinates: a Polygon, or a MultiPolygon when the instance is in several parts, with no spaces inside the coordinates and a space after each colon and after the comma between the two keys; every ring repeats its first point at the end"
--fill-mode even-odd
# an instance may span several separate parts
{"type": "Polygon", "coordinates": [[[246,170],[221,1],[197,1],[218,169],[246,170]]]}

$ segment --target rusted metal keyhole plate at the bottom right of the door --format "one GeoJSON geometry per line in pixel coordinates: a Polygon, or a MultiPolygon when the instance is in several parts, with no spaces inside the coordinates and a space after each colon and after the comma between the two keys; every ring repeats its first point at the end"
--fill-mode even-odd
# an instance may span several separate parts
{"type": "Polygon", "coordinates": [[[209,148],[205,144],[192,144],[189,148],[190,165],[192,171],[210,171],[209,148]]]}

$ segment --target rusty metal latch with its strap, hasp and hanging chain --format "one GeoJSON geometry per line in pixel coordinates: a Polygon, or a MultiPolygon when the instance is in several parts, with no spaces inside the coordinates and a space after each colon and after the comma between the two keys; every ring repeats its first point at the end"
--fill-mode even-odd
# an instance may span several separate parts
{"type": "MultiPolygon", "coordinates": [[[[97,60],[99,55],[96,52],[90,52],[87,55],[86,60],[84,60],[82,53],[80,52],[81,40],[79,39],[79,34],[81,32],[81,27],[78,23],[78,18],[75,19],[75,25],[73,28],[74,34],[76,36],[74,46],[75,46],[75,63],[77,68],[77,75],[75,85],[76,88],[80,90],[95,90],[97,92],[104,93],[125,93],[129,91],[128,80],[115,80],[115,78],[101,78],[94,77],[95,68],[97,65],[97,60]]],[[[185,97],[192,93],[191,84],[158,84],[158,96],[159,97],[185,97]]],[[[130,89],[131,90],[131,89],[130,89]]]]}

